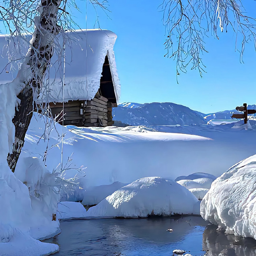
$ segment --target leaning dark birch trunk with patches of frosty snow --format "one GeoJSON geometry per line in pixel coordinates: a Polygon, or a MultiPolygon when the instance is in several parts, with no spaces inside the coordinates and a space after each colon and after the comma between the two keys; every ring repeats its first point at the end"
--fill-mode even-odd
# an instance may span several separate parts
{"type": "Polygon", "coordinates": [[[32,47],[27,56],[27,65],[32,73],[32,79],[25,82],[24,89],[17,95],[19,106],[15,109],[13,124],[15,126],[15,140],[12,153],[8,154],[7,162],[14,172],[20,152],[24,145],[24,138],[33,114],[33,96],[40,92],[46,68],[49,66],[53,52],[53,40],[59,33],[57,13],[62,0],[42,0],[39,6],[40,16],[35,18],[36,29],[33,34],[32,47]]]}

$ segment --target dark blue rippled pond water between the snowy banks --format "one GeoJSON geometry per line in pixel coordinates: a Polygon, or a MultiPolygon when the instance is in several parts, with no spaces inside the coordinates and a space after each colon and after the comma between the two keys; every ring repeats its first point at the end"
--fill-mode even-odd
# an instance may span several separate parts
{"type": "Polygon", "coordinates": [[[217,233],[199,216],[91,219],[60,223],[58,256],[160,256],[174,249],[193,256],[256,256],[256,242],[217,233]],[[173,229],[173,232],[167,232],[173,229]]]}

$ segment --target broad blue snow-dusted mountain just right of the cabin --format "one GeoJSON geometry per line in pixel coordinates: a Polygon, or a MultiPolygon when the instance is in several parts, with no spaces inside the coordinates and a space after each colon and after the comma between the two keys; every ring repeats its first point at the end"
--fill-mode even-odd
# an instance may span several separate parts
{"type": "Polygon", "coordinates": [[[137,104],[125,102],[113,108],[113,119],[124,124],[137,125],[190,125],[206,124],[203,113],[170,102],[137,104]]]}

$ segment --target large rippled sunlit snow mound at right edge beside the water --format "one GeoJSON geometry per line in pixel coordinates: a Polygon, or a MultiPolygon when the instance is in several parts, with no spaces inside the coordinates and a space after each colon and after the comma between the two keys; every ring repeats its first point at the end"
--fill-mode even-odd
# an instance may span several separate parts
{"type": "Polygon", "coordinates": [[[229,234],[256,239],[256,155],[217,178],[201,202],[201,216],[229,234]]]}

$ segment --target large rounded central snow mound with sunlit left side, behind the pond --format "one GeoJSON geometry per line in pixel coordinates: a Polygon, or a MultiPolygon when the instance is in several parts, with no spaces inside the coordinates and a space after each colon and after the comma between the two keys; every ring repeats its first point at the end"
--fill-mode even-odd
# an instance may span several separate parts
{"type": "Polygon", "coordinates": [[[148,177],[119,188],[87,211],[88,217],[147,217],[198,214],[198,200],[172,180],[148,177]]]}

